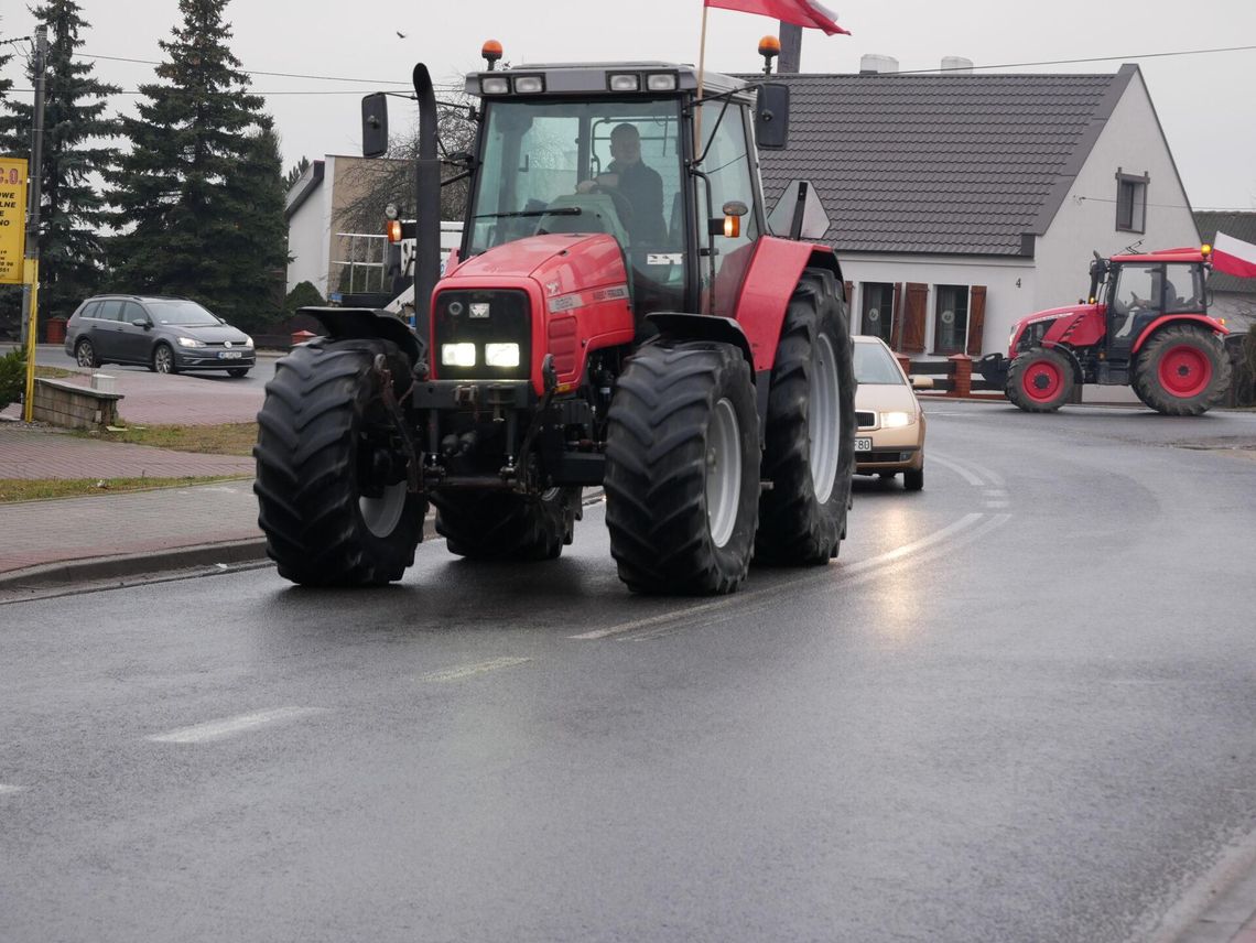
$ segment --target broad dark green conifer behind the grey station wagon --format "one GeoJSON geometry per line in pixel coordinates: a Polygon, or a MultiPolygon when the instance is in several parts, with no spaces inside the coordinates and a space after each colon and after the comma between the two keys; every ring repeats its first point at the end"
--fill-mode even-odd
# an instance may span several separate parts
{"type": "Polygon", "coordinates": [[[242,320],[269,304],[259,285],[286,262],[286,227],[283,164],[263,143],[271,122],[227,45],[226,4],[180,0],[161,82],[141,85],[138,118],[123,119],[132,149],[111,178],[111,261],[119,290],[195,298],[242,320]]]}

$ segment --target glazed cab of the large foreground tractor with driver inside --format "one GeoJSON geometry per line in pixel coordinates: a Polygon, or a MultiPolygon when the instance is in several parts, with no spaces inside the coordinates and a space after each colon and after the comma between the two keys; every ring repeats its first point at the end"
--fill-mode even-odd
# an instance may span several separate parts
{"type": "Polygon", "coordinates": [[[692,67],[623,63],[474,73],[466,90],[482,113],[463,260],[533,236],[608,234],[639,314],[734,315],[766,229],[754,89],[707,73],[698,104],[692,67]]]}

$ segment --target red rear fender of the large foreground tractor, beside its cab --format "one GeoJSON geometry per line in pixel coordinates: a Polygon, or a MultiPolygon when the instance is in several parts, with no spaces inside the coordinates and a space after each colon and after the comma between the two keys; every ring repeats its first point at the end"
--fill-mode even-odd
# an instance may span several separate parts
{"type": "Polygon", "coordinates": [[[764,236],[737,295],[737,323],[746,333],[755,358],[755,373],[770,370],[776,360],[781,325],[790,295],[808,266],[830,269],[842,281],[842,269],[829,246],[764,236]]]}

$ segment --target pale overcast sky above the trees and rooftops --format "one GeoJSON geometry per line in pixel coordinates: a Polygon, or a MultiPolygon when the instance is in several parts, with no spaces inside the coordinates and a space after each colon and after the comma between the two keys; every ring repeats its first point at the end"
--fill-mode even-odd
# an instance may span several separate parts
{"type": "MultiPolygon", "coordinates": [[[[1156,55],[1256,46],[1256,0],[825,4],[838,11],[838,21],[853,35],[805,30],[803,72],[858,72],[859,58],[869,53],[894,57],[902,70],[937,68],[946,55],[972,59],[978,69],[1107,59],[992,72],[1112,73],[1122,62],[1134,62],[1143,70],[1194,208],[1256,208],[1256,48],[1156,55]]],[[[168,38],[181,20],[177,0],[80,0],[80,8],[90,24],[82,50],[100,57],[95,74],[128,90],[151,82],[151,64],[119,60],[152,63],[162,58],[157,41],[168,38]]],[[[500,40],[506,62],[515,64],[614,59],[696,63],[702,4],[231,0],[226,18],[232,25],[232,51],[254,73],[254,90],[266,97],[290,166],[303,156],[360,153],[363,94],[407,88],[416,62],[427,63],[437,83],[455,82],[461,73],[481,68],[479,51],[489,38],[500,40]]],[[[34,18],[24,4],[5,4],[0,38],[25,35],[33,28],[34,18]]],[[[757,40],[775,31],[776,23],[762,16],[710,10],[707,68],[757,70],[757,40]]],[[[10,72],[24,88],[29,83],[16,68],[19,58],[10,63],[10,72]]],[[[117,103],[131,108],[134,98],[122,95],[117,103]]],[[[404,123],[404,112],[406,104],[396,102],[393,122],[404,123]]]]}

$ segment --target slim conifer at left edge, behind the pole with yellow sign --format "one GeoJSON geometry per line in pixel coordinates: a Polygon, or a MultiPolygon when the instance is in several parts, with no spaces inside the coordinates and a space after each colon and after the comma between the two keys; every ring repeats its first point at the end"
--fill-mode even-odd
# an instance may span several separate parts
{"type": "MultiPolygon", "coordinates": [[[[100,235],[107,212],[98,188],[99,175],[117,159],[108,141],[117,121],[106,116],[107,98],[119,89],[92,75],[94,65],[77,58],[80,34],[90,28],[77,0],[48,0],[31,13],[48,26],[44,69],[44,144],[39,210],[39,311],[40,320],[68,318],[104,276],[100,235]]],[[[34,62],[31,62],[31,68],[34,62]]],[[[34,82],[33,72],[28,74],[34,82]]],[[[20,143],[14,151],[30,157],[34,107],[14,102],[0,118],[6,138],[20,143]]],[[[35,170],[31,168],[31,176],[35,170]]]]}

